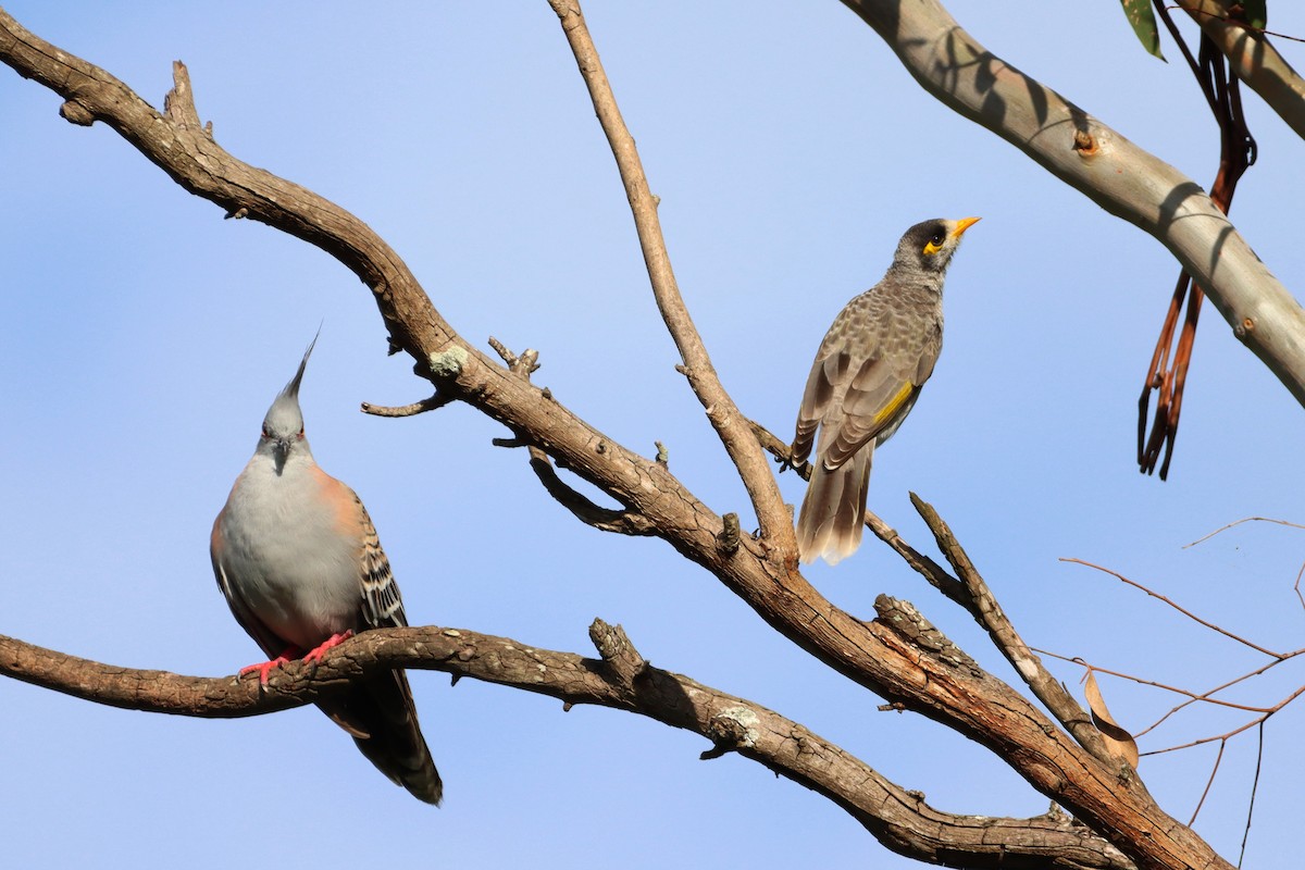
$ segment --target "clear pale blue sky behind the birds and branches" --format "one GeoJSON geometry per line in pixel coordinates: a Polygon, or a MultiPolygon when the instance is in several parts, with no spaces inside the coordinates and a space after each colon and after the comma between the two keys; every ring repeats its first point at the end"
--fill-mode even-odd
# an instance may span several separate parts
{"type": "MultiPolygon", "coordinates": [[[[741,485],[673,367],[607,145],[542,0],[512,4],[47,4],[30,30],[162,104],[171,61],[232,154],[350,209],[398,250],[468,340],[540,351],[535,381],[651,455],[718,513],[741,485]]],[[[1114,4],[949,4],[976,39],[1202,184],[1214,123],[1186,69],[1135,43],[1114,4]]],[[[907,492],[968,547],[1024,638],[1159,682],[1206,689],[1261,663],[1078,557],[1147,583],[1265,646],[1291,648],[1305,519],[1300,408],[1203,312],[1168,483],[1133,464],[1135,402],[1177,266],[1154,240],[933,102],[840,4],[589,3],[638,140],[681,290],[744,412],[791,434],[812,353],[882,275],[900,232],[981,215],[947,280],[942,359],[877,454],[870,507],[927,548],[907,492]]],[[[1305,13],[1274,8],[1275,29],[1305,13]]],[[[1191,29],[1188,27],[1191,33],[1191,29]]],[[[1301,50],[1282,43],[1298,68],[1301,50]]],[[[1176,52],[1169,52],[1178,60],[1176,52]]],[[[427,395],[385,356],[369,292],[326,254],[223,220],[120,137],[57,116],[0,72],[0,633],[187,674],[257,648],[207,556],[213,517],[258,424],[324,323],[303,403],[321,464],[364,498],[414,623],[590,652],[594,617],[654,664],[804,723],[940,809],[1037,814],[1047,801],[981,747],[826,672],[711,577],[654,540],[603,535],[552,503],[501,427],[461,406],[378,420],[360,402],[427,395]]],[[[1301,142],[1248,95],[1259,164],[1233,219],[1301,284],[1301,142]]],[[[801,481],[782,480],[801,498],[801,481]]],[[[745,519],[746,523],[746,519],[745,519]]],[[[869,617],[889,592],[1004,678],[974,623],[874,541],[808,577],[869,617]]],[[[1081,673],[1053,664],[1077,686],[1081,673]]],[[[1274,703],[1300,682],[1236,693],[1274,703]]],[[[607,710],[412,674],[445,779],[441,810],[392,787],[313,710],[240,721],[132,713],[0,682],[0,837],[12,866],[196,867],[371,861],[629,867],[723,860],[834,865],[882,850],[831,803],[693,734],[607,710]],[[337,820],[338,819],[338,820],[337,820]],[[512,831],[514,836],[504,836],[512,831]],[[288,833],[288,836],[287,836],[288,833]]],[[[1174,703],[1103,678],[1125,727],[1174,703]]],[[[1199,711],[1143,751],[1245,715],[1199,711]]],[[[1249,857],[1292,866],[1300,715],[1266,730],[1249,857]]],[[[1235,858],[1254,767],[1235,741],[1198,830],[1235,858]]],[[[1144,758],[1185,819],[1212,751],[1144,758]]],[[[914,866],[914,865],[910,865],[914,866]]]]}

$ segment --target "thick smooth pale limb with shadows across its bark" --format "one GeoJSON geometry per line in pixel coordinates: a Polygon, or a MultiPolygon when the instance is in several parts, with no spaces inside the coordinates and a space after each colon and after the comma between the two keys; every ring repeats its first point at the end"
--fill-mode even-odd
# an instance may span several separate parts
{"type": "Polygon", "coordinates": [[[1305,404],[1305,310],[1191,179],[984,48],[937,0],[843,0],[929,94],[1155,236],[1305,404]]]}

